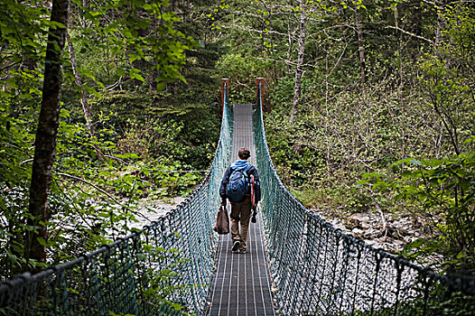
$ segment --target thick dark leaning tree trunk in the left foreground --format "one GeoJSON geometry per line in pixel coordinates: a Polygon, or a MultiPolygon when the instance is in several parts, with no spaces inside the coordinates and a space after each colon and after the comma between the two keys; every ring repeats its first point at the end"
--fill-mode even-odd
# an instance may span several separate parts
{"type": "Polygon", "coordinates": [[[35,227],[26,233],[25,257],[40,263],[46,262],[44,241],[47,240],[48,191],[52,178],[52,163],[56,135],[60,123],[61,52],[68,25],[70,0],[53,0],[51,22],[62,23],[65,28],[50,28],[44,66],[42,109],[36,131],[28,225],[35,227]]]}

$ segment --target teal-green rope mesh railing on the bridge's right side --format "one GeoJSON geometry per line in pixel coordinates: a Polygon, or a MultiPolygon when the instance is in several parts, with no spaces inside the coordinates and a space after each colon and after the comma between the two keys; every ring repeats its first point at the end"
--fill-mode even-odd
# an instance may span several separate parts
{"type": "Polygon", "coordinates": [[[475,278],[435,274],[342,233],[279,180],[254,115],[265,241],[281,315],[475,315],[475,278]],[[471,296],[470,296],[471,295],[471,296]]]}

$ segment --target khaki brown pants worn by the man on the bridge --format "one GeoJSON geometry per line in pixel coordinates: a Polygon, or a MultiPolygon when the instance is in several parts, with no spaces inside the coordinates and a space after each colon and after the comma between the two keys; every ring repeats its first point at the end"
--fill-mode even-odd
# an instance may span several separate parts
{"type": "Polygon", "coordinates": [[[239,241],[241,245],[239,250],[247,248],[247,232],[249,231],[249,219],[251,218],[251,203],[249,199],[242,202],[231,204],[231,237],[233,243],[239,241]],[[239,223],[241,224],[241,233],[239,234],[239,223]]]}

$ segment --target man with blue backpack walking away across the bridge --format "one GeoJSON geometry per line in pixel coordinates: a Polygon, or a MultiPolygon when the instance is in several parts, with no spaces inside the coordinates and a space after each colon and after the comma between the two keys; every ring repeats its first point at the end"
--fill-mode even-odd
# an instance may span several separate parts
{"type": "Polygon", "coordinates": [[[231,203],[231,237],[233,240],[231,250],[241,254],[246,253],[247,250],[247,232],[251,209],[254,210],[253,221],[255,221],[257,202],[261,200],[259,174],[256,167],[247,162],[250,156],[251,153],[246,147],[239,149],[239,160],[228,167],[219,188],[221,205],[226,205],[227,199],[231,203]]]}

